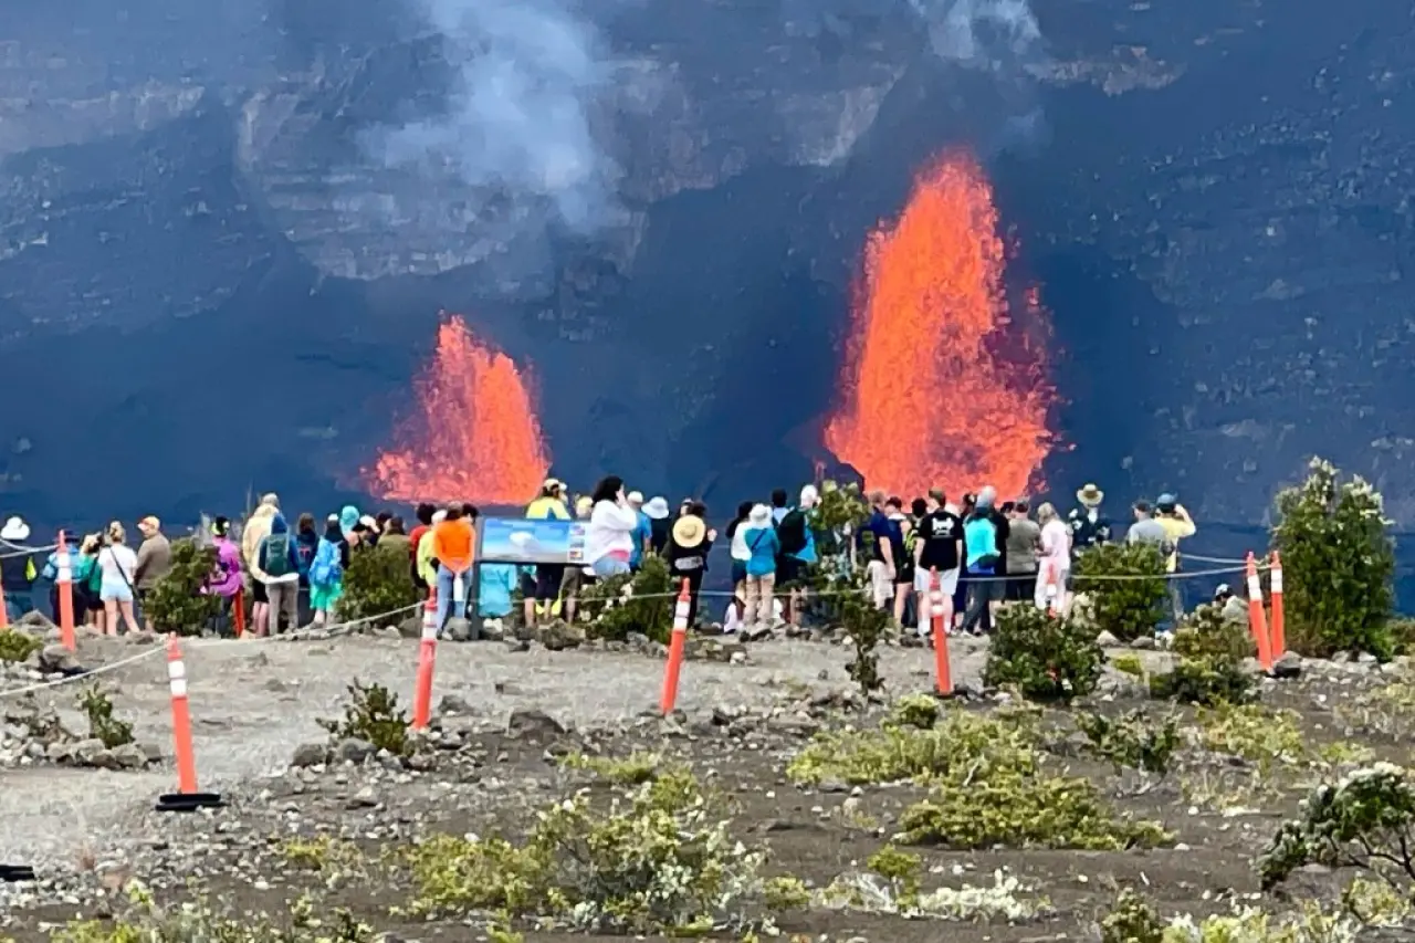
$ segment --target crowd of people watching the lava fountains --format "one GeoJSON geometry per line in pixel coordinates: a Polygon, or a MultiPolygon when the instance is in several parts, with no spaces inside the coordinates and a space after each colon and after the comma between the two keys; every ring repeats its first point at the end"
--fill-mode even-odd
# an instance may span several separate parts
{"type": "MultiPolygon", "coordinates": [[[[981,634],[1005,600],[1030,600],[1039,607],[1065,609],[1071,562],[1088,547],[1116,538],[1102,511],[1104,493],[1094,484],[1077,491],[1077,505],[1061,517],[1043,503],[1033,511],[1026,498],[998,500],[996,488],[964,494],[955,504],[942,490],[907,504],[884,491],[870,491],[869,518],[855,532],[831,532],[818,520],[821,493],[815,484],[792,496],[784,488],[767,501],[744,501],[726,524],[732,599],[724,612],[727,631],[799,622],[808,599],[809,568],[821,562],[819,547],[863,548],[874,606],[889,609],[901,626],[925,633],[931,626],[932,589],[940,590],[944,624],[981,634]],[[935,586],[937,581],[937,586],[935,586]]],[[[1133,522],[1124,539],[1156,547],[1174,572],[1179,542],[1194,534],[1189,513],[1172,494],[1150,505],[1136,501],[1133,522]]],[[[709,556],[717,530],[708,507],[685,498],[676,511],[662,496],[645,500],[608,476],[586,496],[572,498],[566,484],[548,479],[529,503],[531,520],[583,522],[583,561],[516,565],[475,559],[478,510],[468,503],[437,507],[419,504],[415,522],[391,511],[361,514],[345,505],[324,518],[300,514],[291,527],[276,494],[265,494],[239,525],[218,517],[198,537],[215,548],[215,564],[200,592],[216,596],[222,612],[249,600],[249,630],[255,637],[280,633],[334,617],[354,554],[368,548],[396,548],[406,554],[408,579],[436,588],[437,626],[471,613],[481,619],[511,615],[514,595],[524,596],[528,626],[550,619],[573,620],[583,589],[597,579],[638,571],[648,555],[662,558],[674,581],[688,581],[689,622],[696,624],[709,556]],[[475,600],[468,600],[471,592],[475,600]],[[306,606],[301,600],[307,599],[306,606]],[[301,612],[303,610],[303,612],[301,612]],[[307,617],[306,617],[307,616],[307,617]]],[[[11,619],[33,606],[33,586],[57,581],[68,564],[78,617],[100,631],[150,631],[143,619],[144,598],[171,569],[171,544],[161,521],[137,521],[142,541],[134,551],[119,521],[103,531],[67,542],[37,566],[38,552],[27,551],[30,528],[11,517],[0,530],[0,578],[11,619]]],[[[845,566],[853,552],[833,556],[845,566]]],[[[51,610],[58,612],[57,589],[51,610]]],[[[1180,600],[1176,595],[1176,613],[1180,600]]]]}

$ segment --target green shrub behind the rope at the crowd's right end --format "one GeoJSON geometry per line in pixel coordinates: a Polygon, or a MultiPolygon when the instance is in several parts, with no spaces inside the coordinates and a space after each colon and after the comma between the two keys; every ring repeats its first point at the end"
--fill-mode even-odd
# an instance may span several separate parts
{"type": "Polygon", "coordinates": [[[1075,592],[1090,600],[1095,630],[1121,641],[1153,634],[1169,612],[1165,558],[1149,544],[1091,547],[1077,555],[1074,575],[1075,592]]]}

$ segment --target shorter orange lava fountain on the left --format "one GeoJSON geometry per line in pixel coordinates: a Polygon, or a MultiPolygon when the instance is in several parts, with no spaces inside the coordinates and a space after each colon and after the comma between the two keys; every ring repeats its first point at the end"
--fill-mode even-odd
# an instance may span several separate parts
{"type": "Polygon", "coordinates": [[[521,504],[550,467],[521,371],[477,343],[466,321],[437,328],[437,350],[416,381],[417,412],[396,452],[383,452],[371,487],[385,500],[521,504]]]}

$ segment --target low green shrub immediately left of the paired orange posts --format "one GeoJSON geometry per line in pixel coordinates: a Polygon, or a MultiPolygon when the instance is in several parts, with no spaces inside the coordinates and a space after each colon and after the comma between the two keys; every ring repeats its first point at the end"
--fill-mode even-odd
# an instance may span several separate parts
{"type": "Polygon", "coordinates": [[[1179,660],[1172,671],[1150,677],[1150,694],[1183,704],[1242,704],[1254,694],[1254,678],[1242,668],[1252,647],[1247,626],[1206,603],[1180,623],[1173,644],[1179,660]]]}

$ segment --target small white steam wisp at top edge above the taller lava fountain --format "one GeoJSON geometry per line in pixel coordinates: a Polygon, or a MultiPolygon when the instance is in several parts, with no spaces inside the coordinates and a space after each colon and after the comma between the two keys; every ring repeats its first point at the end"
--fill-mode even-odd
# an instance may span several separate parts
{"type": "Polygon", "coordinates": [[[1026,0],[908,0],[928,24],[941,58],[972,68],[1006,69],[1039,54],[1041,28],[1026,0]]]}

